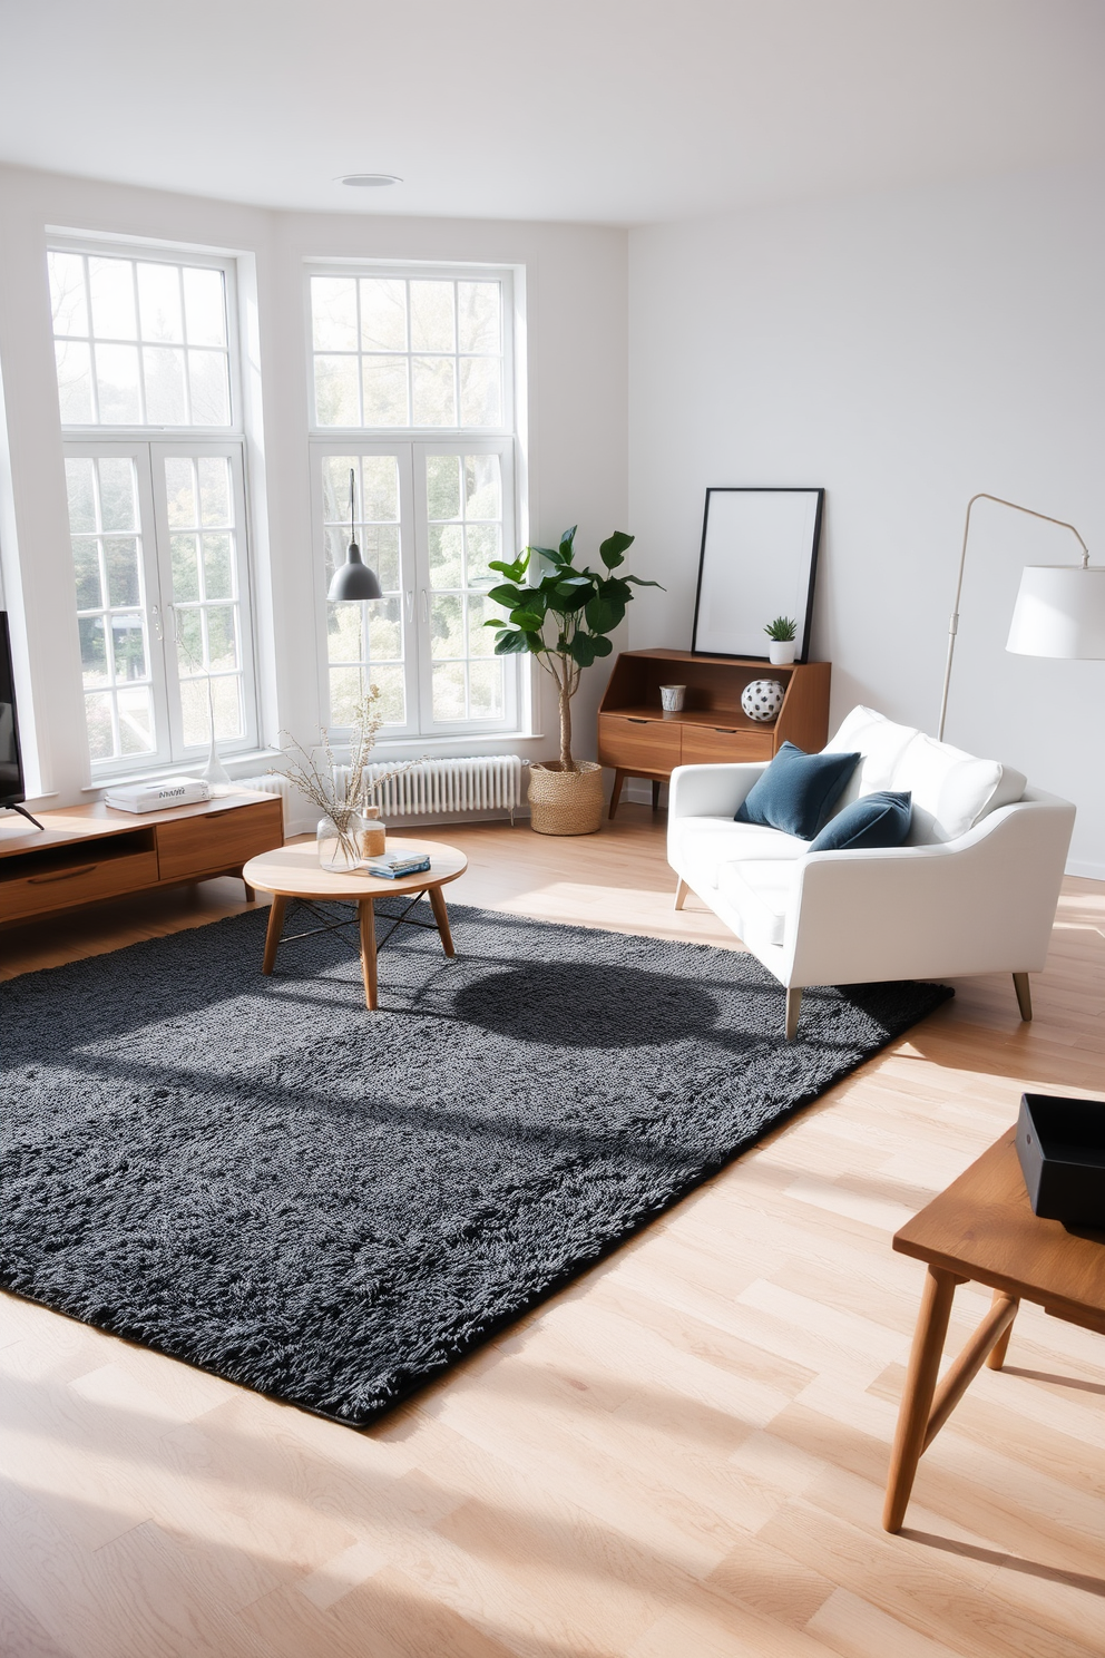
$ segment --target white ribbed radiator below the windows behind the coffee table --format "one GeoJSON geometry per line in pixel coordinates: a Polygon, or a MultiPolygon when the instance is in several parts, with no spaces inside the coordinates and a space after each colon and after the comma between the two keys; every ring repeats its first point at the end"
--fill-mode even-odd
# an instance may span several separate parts
{"type": "MultiPolygon", "coordinates": [[[[394,763],[379,761],[364,769],[371,784],[391,771],[394,763]]],[[[285,819],[300,816],[303,797],[287,778],[240,778],[247,789],[280,794],[285,819]]],[[[424,759],[409,771],[391,778],[371,796],[384,822],[408,817],[466,817],[470,814],[510,812],[522,804],[522,759],[517,754],[474,754],[464,759],[424,759]]],[[[290,822],[287,824],[290,827],[290,822]]]]}

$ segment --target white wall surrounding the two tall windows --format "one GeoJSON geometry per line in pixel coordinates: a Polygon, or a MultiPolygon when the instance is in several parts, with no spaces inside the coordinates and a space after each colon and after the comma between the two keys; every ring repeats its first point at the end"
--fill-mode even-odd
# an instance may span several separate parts
{"type": "MultiPolygon", "coordinates": [[[[323,716],[315,628],[306,620],[316,602],[306,461],[306,257],[524,267],[530,466],[528,524],[522,532],[533,541],[557,541],[578,521],[580,542],[590,547],[625,524],[625,230],[280,214],[0,167],[0,375],[10,458],[7,486],[0,468],[0,552],[18,653],[20,725],[40,804],[70,804],[88,783],[46,225],[245,255],[247,393],[253,388],[249,459],[267,739],[287,728],[310,741],[323,716]]],[[[603,678],[601,671],[585,676],[575,703],[580,758],[595,753],[593,711],[603,678]]],[[[540,675],[535,730],[543,736],[472,748],[555,758],[558,725],[547,685],[540,675]]]]}

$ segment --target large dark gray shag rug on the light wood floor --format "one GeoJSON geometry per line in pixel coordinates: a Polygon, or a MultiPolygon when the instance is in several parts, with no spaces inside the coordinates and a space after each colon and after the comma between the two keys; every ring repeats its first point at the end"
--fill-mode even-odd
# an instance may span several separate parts
{"type": "Polygon", "coordinates": [[[749,955],[456,905],[366,1013],[355,932],[262,978],[265,920],[0,985],[0,1283],[350,1424],[951,995],[807,991],[787,1045],[749,955]]]}

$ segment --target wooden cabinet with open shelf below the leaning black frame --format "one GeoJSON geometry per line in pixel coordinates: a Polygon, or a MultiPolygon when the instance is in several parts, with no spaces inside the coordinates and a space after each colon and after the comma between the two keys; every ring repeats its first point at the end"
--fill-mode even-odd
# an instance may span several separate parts
{"type": "Polygon", "coordinates": [[[689,650],[623,650],[598,708],[598,759],[615,768],[610,816],[626,778],[651,778],[653,806],[659,784],[676,766],[770,759],[784,743],[807,753],[828,739],[828,662],[795,662],[777,668],[737,657],[697,657],[689,650]],[[752,680],[777,680],[784,701],[772,725],[757,725],[741,706],[752,680]],[[666,715],[661,685],[686,685],[683,711],[666,715]]]}

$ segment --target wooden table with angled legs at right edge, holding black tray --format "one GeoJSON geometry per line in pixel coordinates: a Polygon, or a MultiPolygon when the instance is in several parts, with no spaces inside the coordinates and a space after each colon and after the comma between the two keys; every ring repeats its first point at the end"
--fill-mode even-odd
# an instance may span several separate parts
{"type": "Polygon", "coordinates": [[[1032,1214],[1012,1127],[895,1235],[926,1262],[910,1371],[886,1482],[883,1525],[901,1529],[913,1477],[982,1365],[1001,1370],[1021,1302],[1105,1335],[1105,1232],[1067,1232],[1032,1214]],[[994,1292],[989,1313],[936,1386],[959,1283],[994,1292]]]}

